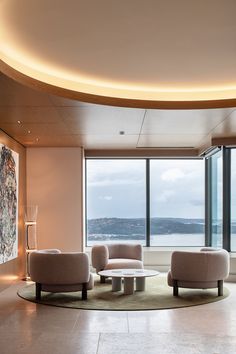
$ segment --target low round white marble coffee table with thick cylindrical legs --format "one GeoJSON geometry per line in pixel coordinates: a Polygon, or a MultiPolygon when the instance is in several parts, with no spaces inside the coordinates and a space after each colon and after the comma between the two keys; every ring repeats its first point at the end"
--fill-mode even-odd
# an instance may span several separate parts
{"type": "Polygon", "coordinates": [[[124,294],[134,293],[134,279],[136,279],[136,291],[145,290],[146,277],[154,277],[159,274],[156,270],[150,269],[111,269],[102,270],[98,273],[104,277],[111,277],[112,291],[120,291],[122,278],[124,279],[124,294]]]}

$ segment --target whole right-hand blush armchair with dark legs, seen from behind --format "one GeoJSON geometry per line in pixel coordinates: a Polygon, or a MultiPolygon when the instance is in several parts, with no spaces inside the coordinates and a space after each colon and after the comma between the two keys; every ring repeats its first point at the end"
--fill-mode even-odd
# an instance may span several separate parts
{"type": "Polygon", "coordinates": [[[174,251],[168,285],[173,287],[173,295],[178,296],[178,288],[218,288],[223,295],[223,281],[229,275],[229,254],[223,249],[202,248],[200,252],[174,251]]]}

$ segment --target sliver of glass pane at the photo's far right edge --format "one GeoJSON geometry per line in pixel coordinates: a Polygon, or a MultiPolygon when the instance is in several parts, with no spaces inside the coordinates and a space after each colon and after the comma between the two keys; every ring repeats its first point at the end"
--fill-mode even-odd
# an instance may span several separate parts
{"type": "Polygon", "coordinates": [[[236,149],[231,150],[231,251],[236,252],[236,149]]]}

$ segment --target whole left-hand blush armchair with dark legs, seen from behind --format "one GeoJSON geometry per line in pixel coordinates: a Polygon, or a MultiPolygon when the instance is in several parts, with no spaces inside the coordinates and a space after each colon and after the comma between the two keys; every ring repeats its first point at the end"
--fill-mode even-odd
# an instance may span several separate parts
{"type": "Polygon", "coordinates": [[[36,283],[36,297],[41,291],[70,292],[93,288],[93,276],[89,271],[88,255],[82,252],[65,253],[60,250],[40,250],[30,255],[30,277],[36,283]]]}

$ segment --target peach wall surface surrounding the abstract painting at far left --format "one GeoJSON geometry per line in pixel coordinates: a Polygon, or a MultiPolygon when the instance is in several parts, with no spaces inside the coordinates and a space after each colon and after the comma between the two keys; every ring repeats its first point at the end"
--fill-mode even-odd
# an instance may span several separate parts
{"type": "Polygon", "coordinates": [[[0,143],[19,154],[18,257],[0,264],[0,291],[25,275],[25,229],[23,207],[26,200],[25,148],[0,130],[0,143]]]}

